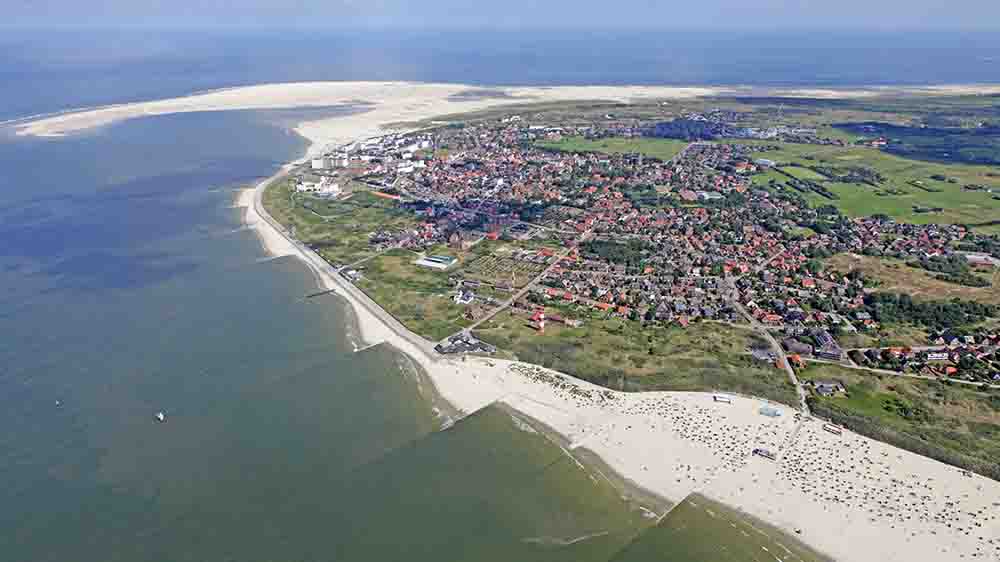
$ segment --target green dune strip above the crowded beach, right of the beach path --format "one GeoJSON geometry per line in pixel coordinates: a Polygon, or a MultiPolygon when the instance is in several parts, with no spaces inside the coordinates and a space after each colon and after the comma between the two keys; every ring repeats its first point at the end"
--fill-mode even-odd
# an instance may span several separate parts
{"type": "Polygon", "coordinates": [[[837,380],[846,396],[813,410],[858,433],[1000,478],[1000,391],[811,363],[802,381],[837,380]]]}

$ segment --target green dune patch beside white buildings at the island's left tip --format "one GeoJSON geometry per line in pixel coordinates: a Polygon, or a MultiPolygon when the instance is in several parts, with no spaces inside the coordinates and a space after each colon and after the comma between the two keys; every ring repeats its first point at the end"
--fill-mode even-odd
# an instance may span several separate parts
{"type": "Polygon", "coordinates": [[[264,193],[264,207],[296,238],[316,248],[333,264],[348,264],[372,255],[370,233],[411,228],[417,222],[395,201],[368,192],[326,200],[295,193],[290,182],[270,187],[264,193]]]}

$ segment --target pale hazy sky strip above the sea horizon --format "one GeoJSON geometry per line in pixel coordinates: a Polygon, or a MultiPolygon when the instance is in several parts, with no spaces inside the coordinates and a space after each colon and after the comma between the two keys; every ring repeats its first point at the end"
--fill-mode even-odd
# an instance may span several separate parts
{"type": "Polygon", "coordinates": [[[6,25],[998,29],[1000,0],[3,0],[6,25]]]}

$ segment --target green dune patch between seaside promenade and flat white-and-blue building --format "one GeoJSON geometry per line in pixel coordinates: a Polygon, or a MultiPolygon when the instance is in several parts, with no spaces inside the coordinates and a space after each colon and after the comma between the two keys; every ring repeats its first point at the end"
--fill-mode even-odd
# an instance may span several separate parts
{"type": "MultiPolygon", "coordinates": [[[[449,254],[444,249],[430,254],[449,254]]],[[[467,325],[465,307],[451,299],[448,271],[421,267],[418,256],[392,250],[364,264],[364,277],[357,283],[365,293],[411,331],[437,341],[467,325]]]]}

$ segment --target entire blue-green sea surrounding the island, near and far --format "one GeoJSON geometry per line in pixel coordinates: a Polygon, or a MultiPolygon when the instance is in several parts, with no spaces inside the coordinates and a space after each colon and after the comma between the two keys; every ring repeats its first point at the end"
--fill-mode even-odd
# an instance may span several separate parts
{"type": "MultiPolygon", "coordinates": [[[[355,352],[345,304],[306,298],[309,270],[265,254],[237,190],[303,153],[295,122],[363,107],[157,116],[60,138],[17,137],[19,121],[298,80],[1000,79],[996,34],[21,29],[0,52],[11,562],[693,562],[707,525],[674,520],[649,540],[663,525],[649,502],[532,420],[490,407],[451,425],[406,357],[355,352]]],[[[745,550],[724,559],[760,551],[745,550]]]]}

